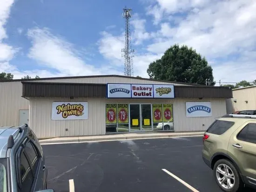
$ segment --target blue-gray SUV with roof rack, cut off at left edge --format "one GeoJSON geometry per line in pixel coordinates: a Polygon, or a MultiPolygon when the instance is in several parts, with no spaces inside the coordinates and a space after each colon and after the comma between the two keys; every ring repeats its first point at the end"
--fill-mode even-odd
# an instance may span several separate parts
{"type": "Polygon", "coordinates": [[[0,192],[54,192],[47,189],[44,153],[27,124],[0,127],[0,192]]]}

